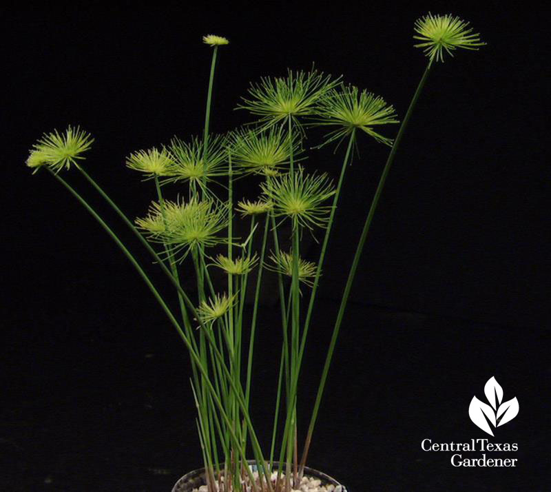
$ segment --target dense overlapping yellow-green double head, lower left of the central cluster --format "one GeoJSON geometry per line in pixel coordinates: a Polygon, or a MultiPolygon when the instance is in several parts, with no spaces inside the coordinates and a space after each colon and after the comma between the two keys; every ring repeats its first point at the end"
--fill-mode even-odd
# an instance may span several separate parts
{"type": "Polygon", "coordinates": [[[164,206],[152,203],[145,218],[136,219],[136,224],[145,230],[149,237],[162,243],[173,245],[171,254],[184,252],[181,259],[191,249],[211,247],[224,242],[217,236],[227,225],[225,204],[191,198],[189,202],[165,202],[164,206]]]}

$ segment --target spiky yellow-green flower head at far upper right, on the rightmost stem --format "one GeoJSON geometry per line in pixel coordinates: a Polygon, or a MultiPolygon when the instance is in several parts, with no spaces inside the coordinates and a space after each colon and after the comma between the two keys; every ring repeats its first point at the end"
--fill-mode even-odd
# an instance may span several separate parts
{"type": "Polygon", "coordinates": [[[452,14],[433,15],[428,14],[415,21],[414,39],[423,41],[417,43],[415,48],[423,48],[430,61],[444,61],[444,50],[453,57],[453,50],[478,50],[479,46],[486,43],[480,41],[480,34],[471,34],[469,23],[461,21],[452,14]]]}

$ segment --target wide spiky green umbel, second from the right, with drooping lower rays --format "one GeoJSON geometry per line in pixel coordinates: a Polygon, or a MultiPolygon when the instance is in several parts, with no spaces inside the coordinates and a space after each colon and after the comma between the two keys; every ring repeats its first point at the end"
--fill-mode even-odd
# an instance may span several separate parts
{"type": "Polygon", "coordinates": [[[326,136],[325,143],[342,139],[354,130],[361,130],[377,142],[392,145],[392,139],[375,132],[373,127],[399,123],[396,112],[380,96],[353,85],[342,85],[338,90],[327,92],[319,101],[313,125],[336,127],[326,136]]]}

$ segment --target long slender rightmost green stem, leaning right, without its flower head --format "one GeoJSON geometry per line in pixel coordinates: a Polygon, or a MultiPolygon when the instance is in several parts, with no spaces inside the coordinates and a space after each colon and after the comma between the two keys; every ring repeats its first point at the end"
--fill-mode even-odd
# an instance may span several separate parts
{"type": "Polygon", "coordinates": [[[360,236],[360,241],[357,244],[356,251],[354,254],[354,259],[352,261],[352,266],[349,271],[348,279],[346,280],[346,286],[344,287],[344,293],[342,294],[342,300],[339,307],[339,312],[337,314],[337,319],[335,321],[335,327],[333,327],[333,336],[331,336],[331,343],[329,345],[329,350],[327,352],[327,356],[325,359],[325,365],[322,372],[322,378],[320,380],[320,386],[318,387],[318,394],[315,398],[315,404],[313,413],[311,416],[308,433],[306,435],[306,442],[304,444],[304,451],[302,452],[302,459],[300,460],[300,468],[301,471],[304,469],[304,465],[306,464],[306,458],[308,456],[309,447],[312,440],[312,434],[313,429],[315,426],[315,421],[318,418],[318,410],[320,408],[320,402],[322,399],[323,391],[325,388],[325,382],[327,379],[327,373],[329,373],[329,367],[331,366],[331,359],[333,358],[333,352],[335,351],[335,344],[337,342],[337,337],[339,335],[340,325],[342,323],[342,318],[344,316],[344,310],[346,309],[346,304],[349,300],[350,291],[352,288],[352,284],[354,281],[354,277],[357,270],[357,265],[360,263],[360,258],[362,256],[362,252],[364,249],[364,244],[366,242],[367,234],[369,232],[369,228],[371,226],[371,221],[373,221],[373,215],[375,214],[375,209],[377,209],[377,204],[379,203],[379,198],[382,194],[382,190],[384,188],[384,183],[386,181],[386,177],[388,176],[388,172],[391,170],[392,163],[394,161],[396,152],[398,150],[399,144],[402,141],[402,136],[404,135],[404,131],[406,130],[406,127],[408,125],[408,121],[411,117],[411,114],[413,113],[413,110],[415,108],[415,105],[417,104],[417,100],[419,99],[419,95],[421,94],[424,85],[426,83],[426,79],[428,77],[428,73],[430,72],[430,66],[432,65],[432,61],[428,62],[428,65],[426,66],[426,69],[423,73],[423,76],[421,78],[421,81],[419,81],[419,85],[417,85],[417,90],[415,90],[415,94],[413,94],[413,99],[411,100],[411,103],[408,107],[408,111],[406,112],[406,116],[404,117],[404,121],[402,121],[402,125],[400,125],[398,134],[396,136],[396,139],[393,143],[393,146],[391,148],[391,152],[388,154],[388,158],[386,159],[386,164],[384,165],[384,170],[382,172],[382,175],[380,177],[379,183],[377,185],[377,190],[375,191],[375,196],[373,196],[373,201],[371,202],[371,207],[369,208],[368,215],[366,217],[366,221],[364,223],[364,229],[362,230],[362,235],[360,236]]]}

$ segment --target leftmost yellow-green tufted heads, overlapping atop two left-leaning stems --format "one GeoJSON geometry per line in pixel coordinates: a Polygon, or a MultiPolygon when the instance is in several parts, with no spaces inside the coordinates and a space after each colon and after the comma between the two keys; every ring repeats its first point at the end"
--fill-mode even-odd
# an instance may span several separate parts
{"type": "Polygon", "coordinates": [[[54,130],[52,133],[44,134],[32,146],[27,165],[35,171],[43,165],[50,167],[56,173],[63,167],[69,169],[71,165],[78,165],[79,161],[84,159],[82,154],[90,150],[93,142],[94,139],[90,134],[78,126],[69,126],[61,134],[54,130]]]}

